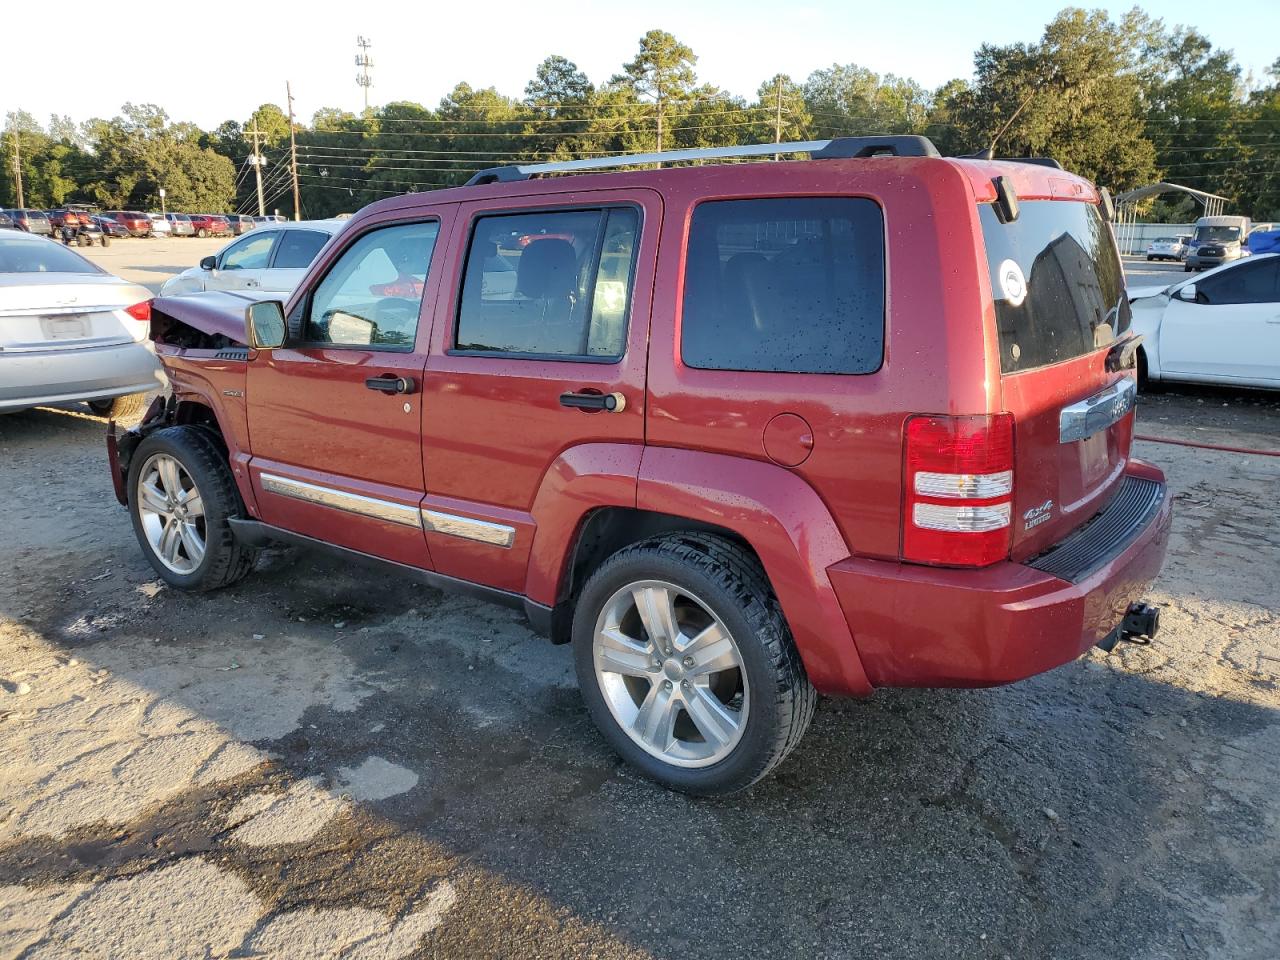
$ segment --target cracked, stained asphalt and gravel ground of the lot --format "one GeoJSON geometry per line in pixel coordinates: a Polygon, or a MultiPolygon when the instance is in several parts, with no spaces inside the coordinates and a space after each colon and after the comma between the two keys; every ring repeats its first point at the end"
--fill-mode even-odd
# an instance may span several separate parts
{"type": "MultiPolygon", "coordinates": [[[[218,246],[93,257],[157,285],[218,246]]],[[[1280,398],[1139,429],[1277,449],[1280,398]]],[[[294,549],[164,589],[102,421],[3,417],[0,960],[1275,957],[1280,458],[1138,453],[1178,500],[1156,644],[823,701],[705,801],[620,765],[508,611],[294,549]]]]}

